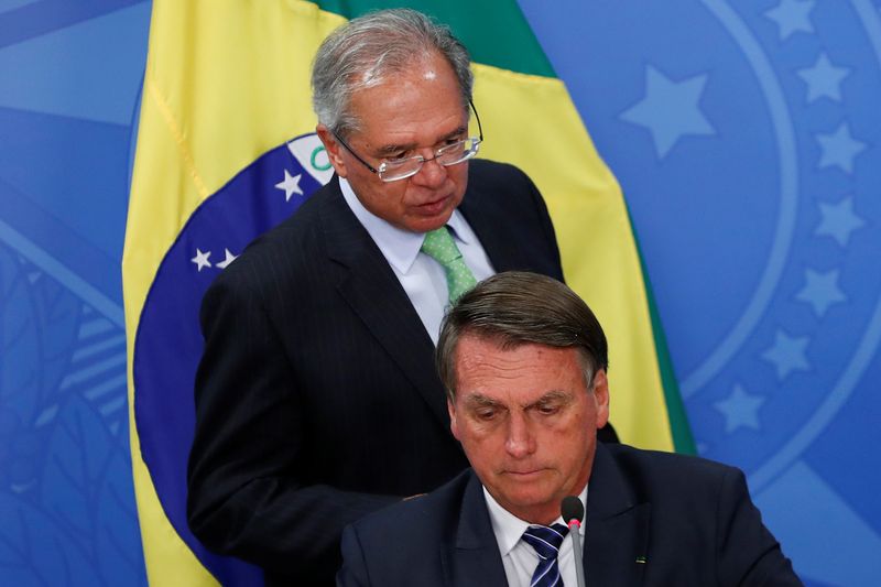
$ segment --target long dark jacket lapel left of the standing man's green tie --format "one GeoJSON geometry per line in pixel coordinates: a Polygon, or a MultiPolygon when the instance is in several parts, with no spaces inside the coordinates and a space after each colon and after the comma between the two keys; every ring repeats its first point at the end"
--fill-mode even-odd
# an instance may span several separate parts
{"type": "Polygon", "coordinates": [[[319,218],[328,257],[339,268],[337,291],[448,428],[446,395],[432,361],[434,344],[394,271],[342,198],[336,176],[319,218]]]}

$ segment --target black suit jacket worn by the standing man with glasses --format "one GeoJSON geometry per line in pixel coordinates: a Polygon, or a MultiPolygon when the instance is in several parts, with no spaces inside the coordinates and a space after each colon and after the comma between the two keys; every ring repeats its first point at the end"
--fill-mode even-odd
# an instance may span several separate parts
{"type": "MultiPolygon", "coordinates": [[[[469,165],[459,209],[494,269],[562,280],[532,182],[469,165]]],[[[189,524],[268,583],[331,584],[347,523],[467,467],[432,339],[336,177],[224,270],[200,322],[189,524]]]]}

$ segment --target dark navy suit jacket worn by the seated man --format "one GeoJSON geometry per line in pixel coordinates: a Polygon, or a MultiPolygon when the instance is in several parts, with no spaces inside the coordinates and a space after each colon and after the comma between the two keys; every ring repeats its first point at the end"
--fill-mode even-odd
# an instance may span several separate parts
{"type": "MultiPolygon", "coordinates": [[[[342,555],[342,587],[508,585],[470,469],[348,526],[342,555]]],[[[740,470],[624,445],[597,445],[584,566],[586,583],[599,587],[802,585],[740,470]]]]}

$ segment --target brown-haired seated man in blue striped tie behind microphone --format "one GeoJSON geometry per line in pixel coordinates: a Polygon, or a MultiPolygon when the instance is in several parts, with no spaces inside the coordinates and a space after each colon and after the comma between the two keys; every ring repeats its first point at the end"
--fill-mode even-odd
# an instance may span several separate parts
{"type": "Polygon", "coordinates": [[[567,496],[587,504],[588,585],[801,585],[738,469],[596,442],[606,337],[564,284],[481,282],[445,318],[437,366],[472,469],[347,528],[338,585],[574,587],[567,496]]]}

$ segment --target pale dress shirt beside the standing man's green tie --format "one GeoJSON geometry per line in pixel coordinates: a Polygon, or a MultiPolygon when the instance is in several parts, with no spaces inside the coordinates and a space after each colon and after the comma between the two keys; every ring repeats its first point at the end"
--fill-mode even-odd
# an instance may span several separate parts
{"type": "MultiPolygon", "coordinates": [[[[440,335],[440,320],[449,304],[447,278],[440,263],[420,251],[425,235],[411,232],[391,225],[365,208],[352,191],[349,182],[339,178],[342,197],[349,205],[358,221],[365,227],[370,238],[377,243],[385,260],[391,265],[398,281],[404,287],[410,302],[416,309],[432,341],[437,345],[440,335]]],[[[494,274],[492,264],[483,250],[483,246],[465,221],[465,217],[456,209],[453,211],[447,227],[461,252],[463,260],[471,270],[477,281],[494,274]]]]}

